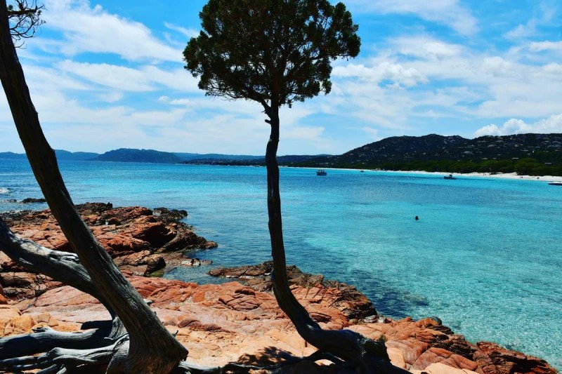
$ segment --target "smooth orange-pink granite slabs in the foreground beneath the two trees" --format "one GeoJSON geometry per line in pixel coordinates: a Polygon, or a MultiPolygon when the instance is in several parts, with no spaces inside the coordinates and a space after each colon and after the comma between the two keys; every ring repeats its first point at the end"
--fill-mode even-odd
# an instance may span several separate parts
{"type": "MultiPolygon", "coordinates": [[[[218,366],[229,361],[274,362],[287,355],[303,356],[315,350],[296,333],[271,293],[253,290],[239,282],[197,285],[130,273],[127,276],[143,298],[152,300],[152,307],[164,325],[178,332],[178,340],[190,350],[188,361],[192,363],[218,366]]],[[[542,360],[492,343],[471,345],[464,341],[472,349],[470,357],[436,347],[459,344],[456,338],[459,335],[433,330],[440,326],[433,320],[350,323],[333,306],[333,291],[305,292],[301,287],[294,286],[295,295],[322,328],[349,328],[372,339],[384,335],[393,363],[412,373],[556,373],[542,360]]],[[[0,305],[0,332],[22,333],[40,321],[53,321],[55,329],[78,329],[86,321],[108,318],[109,314],[91,296],[65,286],[48,290],[31,305],[22,307],[21,312],[0,305]]],[[[310,369],[339,373],[336,366],[315,365],[310,369]]]]}

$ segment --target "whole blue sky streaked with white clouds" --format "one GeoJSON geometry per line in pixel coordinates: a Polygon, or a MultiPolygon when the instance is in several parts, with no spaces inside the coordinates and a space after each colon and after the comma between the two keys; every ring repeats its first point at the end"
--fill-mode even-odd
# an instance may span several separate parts
{"type": "MultiPolygon", "coordinates": [[[[562,133],[559,0],[345,0],[357,58],[332,93],[280,112],[278,154],[341,154],[399,135],[562,133]]],[[[264,154],[259,104],[205,96],[183,68],[206,1],[45,0],[18,50],[51,147],[264,154]]],[[[251,43],[251,41],[247,41],[251,43]]],[[[22,152],[0,95],[0,152],[22,152]]]]}

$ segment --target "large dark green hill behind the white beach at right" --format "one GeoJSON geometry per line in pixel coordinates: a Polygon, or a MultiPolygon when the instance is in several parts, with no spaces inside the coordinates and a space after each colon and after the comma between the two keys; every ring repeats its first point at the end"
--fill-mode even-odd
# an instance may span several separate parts
{"type": "Polygon", "coordinates": [[[290,166],[562,175],[562,134],[391,137],[290,166]]]}

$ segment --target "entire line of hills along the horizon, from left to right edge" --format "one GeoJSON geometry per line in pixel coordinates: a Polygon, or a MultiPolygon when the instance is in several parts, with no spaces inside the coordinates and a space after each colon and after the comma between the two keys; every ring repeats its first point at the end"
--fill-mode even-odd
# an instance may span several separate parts
{"type": "MultiPolygon", "coordinates": [[[[263,156],[160,152],[115,149],[104,154],[56,150],[60,161],[265,165],[263,156]]],[[[25,159],[25,154],[0,153],[0,159],[25,159]]],[[[518,134],[466,139],[458,135],[395,136],[340,155],[278,156],[281,166],[357,168],[445,173],[517,173],[562,175],[562,134],[518,134]]]]}

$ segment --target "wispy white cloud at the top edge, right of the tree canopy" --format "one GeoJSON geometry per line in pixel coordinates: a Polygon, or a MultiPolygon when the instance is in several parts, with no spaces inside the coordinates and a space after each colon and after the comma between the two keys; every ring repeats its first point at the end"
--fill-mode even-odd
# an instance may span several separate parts
{"type": "Polygon", "coordinates": [[[458,0],[348,0],[353,12],[414,14],[431,22],[447,25],[459,34],[478,31],[476,18],[458,0]]]}

